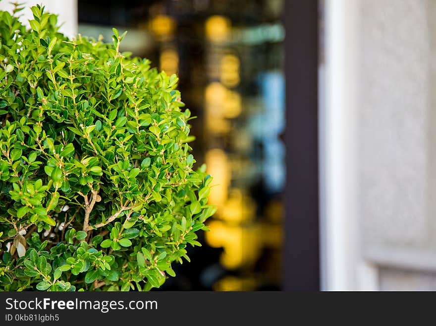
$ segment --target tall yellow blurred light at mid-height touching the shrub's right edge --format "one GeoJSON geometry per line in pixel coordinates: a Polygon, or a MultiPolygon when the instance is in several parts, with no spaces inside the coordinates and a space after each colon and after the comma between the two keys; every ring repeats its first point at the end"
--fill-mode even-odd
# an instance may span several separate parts
{"type": "Polygon", "coordinates": [[[214,176],[216,187],[211,188],[208,201],[211,204],[222,207],[228,197],[228,186],[230,184],[230,167],[227,163],[227,155],[221,149],[211,149],[206,152],[206,165],[209,173],[214,176]]]}

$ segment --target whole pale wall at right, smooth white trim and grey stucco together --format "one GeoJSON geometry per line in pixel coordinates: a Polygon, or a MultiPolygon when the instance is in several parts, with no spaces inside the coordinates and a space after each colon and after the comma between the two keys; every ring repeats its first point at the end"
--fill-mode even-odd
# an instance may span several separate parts
{"type": "Polygon", "coordinates": [[[434,290],[436,2],[326,0],[325,17],[322,288],[434,290]]]}

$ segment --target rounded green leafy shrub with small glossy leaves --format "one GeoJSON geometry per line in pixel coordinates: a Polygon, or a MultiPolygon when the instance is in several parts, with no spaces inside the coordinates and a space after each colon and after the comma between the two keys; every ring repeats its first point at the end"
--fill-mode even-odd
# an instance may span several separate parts
{"type": "Polygon", "coordinates": [[[0,11],[0,290],[150,290],[216,208],[177,77],[0,11]]]}

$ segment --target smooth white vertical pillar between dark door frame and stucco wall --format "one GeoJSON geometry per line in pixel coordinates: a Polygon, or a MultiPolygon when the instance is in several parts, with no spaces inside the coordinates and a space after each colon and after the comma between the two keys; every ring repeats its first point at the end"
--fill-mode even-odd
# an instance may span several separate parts
{"type": "Polygon", "coordinates": [[[373,290],[376,269],[360,255],[358,134],[360,1],[325,1],[320,80],[321,269],[323,290],[373,290]]]}

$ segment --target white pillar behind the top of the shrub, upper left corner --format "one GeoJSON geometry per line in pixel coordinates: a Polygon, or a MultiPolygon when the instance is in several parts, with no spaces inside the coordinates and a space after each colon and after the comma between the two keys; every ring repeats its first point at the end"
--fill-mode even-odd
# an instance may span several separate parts
{"type": "MultiPolygon", "coordinates": [[[[13,5],[10,1],[0,1],[0,10],[11,11],[13,5]]],[[[28,22],[29,19],[33,19],[32,11],[30,7],[36,4],[42,4],[46,8],[46,11],[57,14],[58,24],[63,24],[59,31],[65,35],[72,37],[77,35],[77,0],[22,0],[18,1],[25,3],[26,8],[19,12],[22,15],[21,21],[28,22]]]]}

